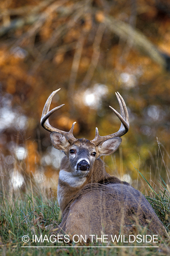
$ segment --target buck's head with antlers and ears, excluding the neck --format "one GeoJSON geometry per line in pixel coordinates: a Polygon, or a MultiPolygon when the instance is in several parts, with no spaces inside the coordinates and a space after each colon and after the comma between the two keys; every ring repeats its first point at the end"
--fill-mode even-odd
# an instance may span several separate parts
{"type": "Polygon", "coordinates": [[[118,149],[122,141],[120,137],[129,130],[128,110],[122,96],[119,93],[116,93],[120,104],[121,115],[114,108],[110,108],[122,122],[119,131],[110,135],[100,136],[98,128],[96,127],[96,135],[93,140],[88,141],[84,139],[76,139],[73,135],[73,129],[76,122],[72,124],[69,132],[58,130],[49,124],[48,117],[50,117],[50,115],[56,110],[64,106],[63,104],[49,111],[52,97],[59,90],[60,89],[52,92],[52,94],[48,97],[43,109],[41,125],[47,131],[51,132],[50,139],[53,146],[59,150],[62,150],[68,158],[74,159],[75,165],[73,168],[75,171],[77,171],[77,175],[82,175],[84,171],[88,171],[90,169],[90,166],[93,165],[95,159],[102,155],[110,155],[118,149]]]}

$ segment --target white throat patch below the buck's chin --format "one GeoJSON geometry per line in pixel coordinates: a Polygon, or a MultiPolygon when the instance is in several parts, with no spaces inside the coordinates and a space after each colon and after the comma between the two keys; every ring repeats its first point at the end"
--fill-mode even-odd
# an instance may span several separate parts
{"type": "Polygon", "coordinates": [[[66,172],[65,170],[60,170],[59,178],[60,180],[68,183],[70,187],[80,187],[86,181],[86,174],[88,171],[75,170],[75,176],[71,172],[66,172]],[[77,173],[77,175],[76,175],[77,173]]]}

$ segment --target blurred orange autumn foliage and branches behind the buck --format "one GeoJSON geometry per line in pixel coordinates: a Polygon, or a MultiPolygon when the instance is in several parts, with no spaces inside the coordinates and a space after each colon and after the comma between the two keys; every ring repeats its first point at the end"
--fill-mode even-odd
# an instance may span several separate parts
{"type": "Polygon", "coordinates": [[[143,189],[169,184],[169,0],[4,0],[0,2],[1,191],[34,184],[56,193],[63,154],[40,125],[46,99],[65,104],[49,119],[74,136],[118,131],[115,92],[124,98],[129,132],[112,156],[111,175],[143,189]]]}

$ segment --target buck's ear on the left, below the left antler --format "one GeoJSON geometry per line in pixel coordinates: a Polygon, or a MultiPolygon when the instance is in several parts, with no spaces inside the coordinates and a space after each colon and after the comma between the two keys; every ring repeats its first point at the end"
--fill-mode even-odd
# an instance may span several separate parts
{"type": "Polygon", "coordinates": [[[70,145],[70,142],[64,137],[64,135],[57,132],[50,133],[50,139],[54,148],[64,152],[66,151],[67,146],[70,145]]]}

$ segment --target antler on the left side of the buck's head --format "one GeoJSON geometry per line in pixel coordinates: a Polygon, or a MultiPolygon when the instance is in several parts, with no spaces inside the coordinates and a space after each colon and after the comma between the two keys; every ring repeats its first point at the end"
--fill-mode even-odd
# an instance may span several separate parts
{"type": "Polygon", "coordinates": [[[48,97],[45,105],[44,105],[44,109],[43,109],[43,113],[42,113],[42,116],[41,116],[41,125],[43,126],[44,129],[46,129],[47,131],[50,131],[50,132],[58,132],[62,135],[64,135],[66,137],[66,139],[70,142],[70,143],[73,143],[74,141],[76,141],[76,138],[73,136],[73,129],[74,129],[74,125],[76,122],[74,122],[72,124],[72,127],[70,129],[69,132],[65,132],[65,131],[61,131],[57,128],[54,128],[50,125],[49,121],[48,121],[48,117],[50,117],[50,115],[52,115],[52,113],[54,113],[56,110],[62,108],[64,106],[64,104],[56,107],[56,108],[53,108],[52,110],[49,111],[50,109],[50,104],[51,104],[51,100],[52,100],[52,97],[56,94],[56,92],[58,92],[60,89],[52,92],[52,94],[50,94],[50,96],[48,97]]]}

